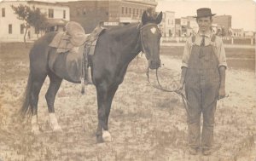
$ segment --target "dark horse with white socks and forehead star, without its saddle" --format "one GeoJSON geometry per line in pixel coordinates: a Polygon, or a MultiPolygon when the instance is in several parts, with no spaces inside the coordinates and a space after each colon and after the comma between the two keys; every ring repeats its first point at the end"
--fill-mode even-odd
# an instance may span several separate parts
{"type": "MultiPolygon", "coordinates": [[[[154,70],[160,67],[161,32],[158,25],[161,20],[162,12],[153,15],[144,11],[141,22],[109,28],[98,37],[95,53],[90,58],[91,79],[96,86],[97,95],[96,141],[98,143],[105,141],[102,134],[111,138],[108,132],[108,116],[113,96],[119,84],[123,82],[131,60],[143,52],[148,60],[148,68],[154,70]]],[[[54,106],[55,95],[61,86],[61,81],[65,79],[72,83],[81,83],[81,80],[72,80],[67,77],[61,60],[55,65],[55,70],[49,68],[49,61],[56,55],[56,49],[49,47],[55,34],[56,32],[49,32],[40,37],[29,53],[30,72],[25,100],[20,112],[23,116],[32,116],[31,124],[34,134],[40,133],[38,95],[45,78],[48,76],[50,81],[45,99],[49,111],[49,125],[53,131],[62,130],[57,122],[54,106]]]]}

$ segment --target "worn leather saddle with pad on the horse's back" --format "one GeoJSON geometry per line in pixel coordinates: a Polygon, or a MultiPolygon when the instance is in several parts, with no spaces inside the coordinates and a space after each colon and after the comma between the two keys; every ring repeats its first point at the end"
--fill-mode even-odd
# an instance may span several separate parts
{"type": "Polygon", "coordinates": [[[71,82],[81,81],[82,85],[91,82],[88,72],[90,56],[94,55],[96,41],[105,28],[96,26],[96,29],[87,35],[77,22],[69,22],[66,28],[67,32],[58,32],[49,43],[49,47],[55,49],[50,55],[49,69],[56,73],[56,66],[64,65],[65,71],[61,71],[62,78],[71,82]]]}

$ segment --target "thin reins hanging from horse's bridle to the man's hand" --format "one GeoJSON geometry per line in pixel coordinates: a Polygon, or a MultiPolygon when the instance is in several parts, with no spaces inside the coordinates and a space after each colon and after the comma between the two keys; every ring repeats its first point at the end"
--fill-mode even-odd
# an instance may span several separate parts
{"type": "Polygon", "coordinates": [[[183,100],[183,105],[184,105],[184,108],[186,110],[186,112],[188,113],[188,115],[190,116],[190,113],[189,113],[189,101],[187,100],[186,96],[183,95],[182,92],[178,91],[177,89],[163,89],[161,84],[160,84],[160,81],[159,81],[159,78],[158,78],[158,69],[155,70],[155,76],[156,76],[156,80],[157,80],[157,83],[158,83],[158,86],[154,85],[153,83],[150,82],[149,80],[149,66],[148,66],[148,69],[147,69],[147,78],[148,78],[148,83],[150,83],[151,86],[153,86],[155,89],[160,89],[164,92],[169,92],[169,93],[175,93],[177,95],[180,95],[182,97],[182,100],[183,100]]]}

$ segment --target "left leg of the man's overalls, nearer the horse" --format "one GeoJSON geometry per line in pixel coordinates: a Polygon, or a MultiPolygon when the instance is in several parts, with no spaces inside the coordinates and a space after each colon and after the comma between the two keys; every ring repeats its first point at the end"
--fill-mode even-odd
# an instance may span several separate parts
{"type": "Polygon", "coordinates": [[[187,120],[189,147],[199,148],[201,142],[201,89],[195,86],[186,86],[185,90],[190,105],[187,120]]]}

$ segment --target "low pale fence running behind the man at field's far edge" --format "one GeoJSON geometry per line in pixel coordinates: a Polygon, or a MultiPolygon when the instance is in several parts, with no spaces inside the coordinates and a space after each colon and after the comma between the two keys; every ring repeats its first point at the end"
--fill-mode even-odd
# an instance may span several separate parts
{"type": "MultiPolygon", "coordinates": [[[[185,43],[188,37],[162,37],[161,43],[185,43]]],[[[225,44],[254,45],[255,37],[222,37],[225,44]]]]}

